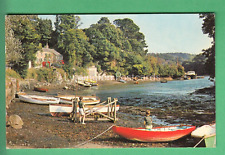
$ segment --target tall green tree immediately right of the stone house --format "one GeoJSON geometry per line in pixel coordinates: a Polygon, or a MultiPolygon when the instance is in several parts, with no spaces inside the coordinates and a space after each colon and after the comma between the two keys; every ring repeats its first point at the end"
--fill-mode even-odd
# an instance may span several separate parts
{"type": "Polygon", "coordinates": [[[80,18],[75,15],[57,15],[54,35],[57,38],[57,50],[63,55],[64,69],[72,75],[80,68],[85,68],[93,61],[96,55],[95,47],[88,41],[89,38],[78,29],[80,18]]]}

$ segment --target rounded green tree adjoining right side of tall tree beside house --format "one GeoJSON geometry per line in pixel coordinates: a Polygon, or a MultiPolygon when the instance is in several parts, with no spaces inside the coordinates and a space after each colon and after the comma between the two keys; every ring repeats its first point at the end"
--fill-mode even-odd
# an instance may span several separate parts
{"type": "Polygon", "coordinates": [[[120,68],[120,49],[118,33],[114,25],[111,25],[108,18],[101,18],[98,24],[91,25],[85,29],[90,44],[95,47],[93,53],[95,63],[101,66],[99,69],[105,72],[115,72],[120,68]],[[117,38],[118,37],[118,38],[117,38]],[[114,44],[115,43],[115,44],[114,44]]]}

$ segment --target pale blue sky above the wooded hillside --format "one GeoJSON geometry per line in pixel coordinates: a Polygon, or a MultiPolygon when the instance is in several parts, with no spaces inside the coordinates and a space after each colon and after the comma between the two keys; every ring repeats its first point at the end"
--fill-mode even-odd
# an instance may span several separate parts
{"type": "MultiPolygon", "coordinates": [[[[212,39],[202,33],[202,19],[198,14],[98,14],[78,15],[81,29],[96,24],[101,17],[108,17],[111,23],[115,19],[130,18],[145,35],[150,53],[191,53],[200,54],[211,47],[212,39]]],[[[40,15],[39,18],[51,19],[54,15],[40,15]]]]}

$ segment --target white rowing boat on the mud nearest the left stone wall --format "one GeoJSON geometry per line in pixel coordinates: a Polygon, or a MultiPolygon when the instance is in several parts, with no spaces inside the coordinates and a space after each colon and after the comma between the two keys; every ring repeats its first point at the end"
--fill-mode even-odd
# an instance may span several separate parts
{"type": "Polygon", "coordinates": [[[38,95],[21,95],[18,97],[23,102],[34,103],[34,104],[58,104],[59,98],[48,97],[48,96],[38,96],[38,95]]]}

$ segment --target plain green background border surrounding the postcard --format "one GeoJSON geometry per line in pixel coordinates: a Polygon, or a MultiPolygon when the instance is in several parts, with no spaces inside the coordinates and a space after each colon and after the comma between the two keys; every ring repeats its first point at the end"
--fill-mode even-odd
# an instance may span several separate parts
{"type": "Polygon", "coordinates": [[[225,1],[224,0],[2,0],[0,2],[0,154],[223,154],[225,98],[225,1]],[[216,121],[217,148],[129,148],[129,149],[9,149],[5,138],[4,16],[6,14],[61,13],[199,13],[216,14],[216,121]]]}

